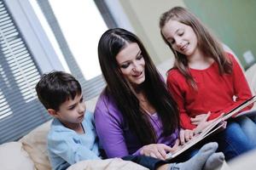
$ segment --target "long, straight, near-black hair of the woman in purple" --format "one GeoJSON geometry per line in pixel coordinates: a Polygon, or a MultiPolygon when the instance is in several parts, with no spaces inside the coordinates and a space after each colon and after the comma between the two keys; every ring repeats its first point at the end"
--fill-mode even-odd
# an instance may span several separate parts
{"type": "Polygon", "coordinates": [[[124,49],[127,44],[136,42],[142,51],[145,60],[145,81],[143,91],[151,105],[160,116],[163,124],[163,134],[172,134],[179,127],[179,114],[177,104],[169,94],[166,83],[163,82],[160,73],[150,59],[146,48],[140,39],[121,28],[109,29],[98,43],[98,56],[102,74],[107,82],[105,93],[111,96],[124,116],[125,123],[135,133],[142,144],[156,142],[154,128],[148,120],[147,114],[139,105],[139,100],[134,94],[129,82],[123,77],[116,55],[124,49]]]}

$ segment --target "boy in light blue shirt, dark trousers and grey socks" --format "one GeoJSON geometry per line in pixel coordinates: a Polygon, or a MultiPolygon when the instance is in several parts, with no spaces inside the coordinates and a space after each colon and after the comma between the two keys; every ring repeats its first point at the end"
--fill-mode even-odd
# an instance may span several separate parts
{"type": "MultiPolygon", "coordinates": [[[[49,160],[52,169],[67,169],[83,160],[101,159],[93,115],[85,111],[79,82],[63,71],[44,74],[36,86],[38,99],[54,117],[48,135],[49,160]]],[[[189,161],[167,164],[148,156],[125,156],[149,169],[212,169],[224,161],[222,153],[214,153],[218,144],[206,144],[189,161]]]]}

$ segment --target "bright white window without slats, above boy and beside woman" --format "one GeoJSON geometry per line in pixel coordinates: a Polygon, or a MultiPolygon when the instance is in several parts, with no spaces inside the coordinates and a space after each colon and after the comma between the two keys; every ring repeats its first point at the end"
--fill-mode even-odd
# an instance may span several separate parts
{"type": "MultiPolygon", "coordinates": [[[[82,85],[85,99],[101,93],[105,83],[97,57],[97,43],[108,29],[93,0],[29,0],[65,70],[82,85]]],[[[103,1],[102,1],[103,2],[103,1]]],[[[106,9],[106,8],[105,8],[106,9]]]]}

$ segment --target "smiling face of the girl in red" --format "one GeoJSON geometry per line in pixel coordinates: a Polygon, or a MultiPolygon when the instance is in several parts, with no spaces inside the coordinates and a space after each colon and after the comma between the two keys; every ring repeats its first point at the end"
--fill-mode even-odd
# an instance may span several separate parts
{"type": "Polygon", "coordinates": [[[162,28],[162,34],[172,48],[180,54],[193,56],[198,51],[195,31],[177,20],[169,20],[162,28]]]}

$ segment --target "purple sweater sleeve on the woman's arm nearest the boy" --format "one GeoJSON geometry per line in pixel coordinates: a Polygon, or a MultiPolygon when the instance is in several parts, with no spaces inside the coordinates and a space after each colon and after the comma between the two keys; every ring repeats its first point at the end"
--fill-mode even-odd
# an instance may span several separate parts
{"type": "MultiPolygon", "coordinates": [[[[108,158],[128,156],[129,152],[123,135],[123,119],[117,108],[106,101],[107,99],[101,96],[96,104],[96,132],[108,158]]],[[[140,150],[137,150],[132,155],[139,155],[139,152],[140,150]]]]}

